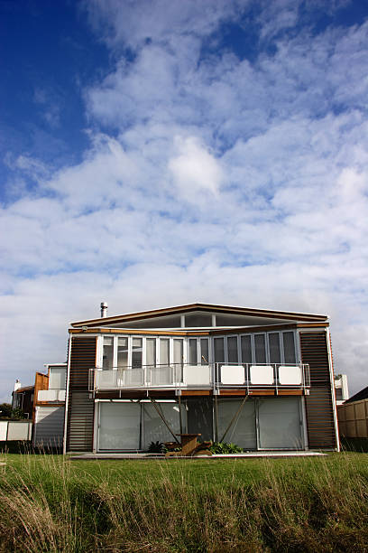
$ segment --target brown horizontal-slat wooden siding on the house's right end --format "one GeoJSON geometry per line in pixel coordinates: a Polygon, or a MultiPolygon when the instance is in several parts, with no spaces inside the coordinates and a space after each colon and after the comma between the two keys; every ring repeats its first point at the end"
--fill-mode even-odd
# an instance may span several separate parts
{"type": "Polygon", "coordinates": [[[303,363],[310,370],[310,390],[306,396],[308,445],[310,448],[336,448],[336,427],[328,362],[327,334],[300,333],[303,363]]]}

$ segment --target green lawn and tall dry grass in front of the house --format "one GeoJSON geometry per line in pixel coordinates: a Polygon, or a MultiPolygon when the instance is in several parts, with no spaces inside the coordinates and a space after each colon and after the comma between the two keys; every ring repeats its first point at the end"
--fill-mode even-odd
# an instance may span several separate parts
{"type": "Polygon", "coordinates": [[[1,455],[0,551],[368,551],[368,455],[1,455]]]}

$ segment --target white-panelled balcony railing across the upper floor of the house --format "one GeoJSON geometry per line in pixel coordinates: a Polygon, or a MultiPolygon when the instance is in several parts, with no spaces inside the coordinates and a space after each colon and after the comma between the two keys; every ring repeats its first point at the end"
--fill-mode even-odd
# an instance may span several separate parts
{"type": "Polygon", "coordinates": [[[128,389],[308,389],[303,363],[209,363],[146,365],[89,371],[90,391],[128,389]]]}

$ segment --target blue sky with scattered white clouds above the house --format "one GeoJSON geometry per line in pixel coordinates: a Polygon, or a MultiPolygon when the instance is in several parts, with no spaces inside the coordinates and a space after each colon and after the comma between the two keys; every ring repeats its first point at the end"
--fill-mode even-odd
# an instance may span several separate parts
{"type": "Polygon", "coordinates": [[[0,400],[68,323],[201,301],[331,316],[366,386],[368,5],[0,4],[0,400]]]}

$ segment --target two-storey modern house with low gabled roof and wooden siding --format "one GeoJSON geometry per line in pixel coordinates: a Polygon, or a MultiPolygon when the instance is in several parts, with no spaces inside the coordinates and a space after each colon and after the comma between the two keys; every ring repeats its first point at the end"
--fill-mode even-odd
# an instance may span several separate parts
{"type": "Polygon", "coordinates": [[[64,452],[182,433],[338,450],[326,315],[191,304],[71,323],[64,452]]]}

